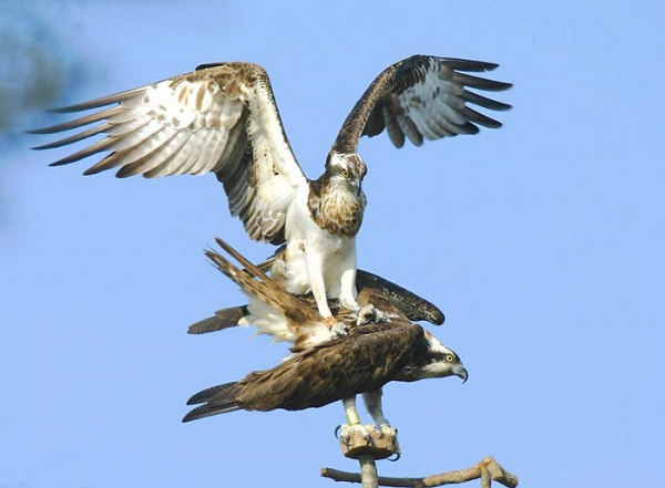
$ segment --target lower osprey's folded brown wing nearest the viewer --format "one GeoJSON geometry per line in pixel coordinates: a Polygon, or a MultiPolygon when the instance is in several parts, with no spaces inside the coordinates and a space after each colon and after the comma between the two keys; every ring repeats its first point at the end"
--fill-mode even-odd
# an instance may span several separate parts
{"type": "Polygon", "coordinates": [[[368,324],[319,344],[272,370],[197,393],[188,404],[204,403],[185,417],[193,420],[244,408],[299,411],[378,390],[421,345],[423,330],[408,322],[368,324]]]}

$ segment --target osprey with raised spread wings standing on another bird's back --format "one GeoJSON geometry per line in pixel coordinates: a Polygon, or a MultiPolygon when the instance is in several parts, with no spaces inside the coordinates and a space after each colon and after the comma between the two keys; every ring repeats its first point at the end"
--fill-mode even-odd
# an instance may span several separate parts
{"type": "MultiPolygon", "coordinates": [[[[494,63],[415,55],[381,72],[356,103],[315,180],[303,173],[282,126],[265,70],[244,62],[204,64],[196,71],[115,95],[57,110],[101,108],[81,118],[32,131],[51,134],[100,123],[47,149],[88,137],[106,136],[52,165],[111,153],[84,174],[119,168],[116,176],[214,173],[224,185],[231,214],[249,237],[286,242],[287,290],[311,291],[319,314],[334,326],[327,297],[358,311],[356,235],[367,204],[361,181],[367,172],[357,154],[361,136],[386,129],[401,147],[408,138],[475,134],[478,125],[501,124],[468,104],[504,111],[510,105],[468,89],[511,86],[463,72],[491,71],[494,63]]],[[[371,304],[368,304],[371,312],[371,304]]],[[[339,328],[337,332],[342,332],[339,328]]]]}

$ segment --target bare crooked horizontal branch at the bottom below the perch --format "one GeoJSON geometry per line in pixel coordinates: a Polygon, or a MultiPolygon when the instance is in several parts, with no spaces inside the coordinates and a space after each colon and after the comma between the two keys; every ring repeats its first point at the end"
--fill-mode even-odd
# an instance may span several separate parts
{"type": "MultiPolygon", "coordinates": [[[[361,477],[357,473],[339,471],[331,468],[323,468],[321,476],[335,481],[361,482],[361,477]]],[[[508,488],[515,488],[520,482],[515,475],[503,469],[493,457],[488,456],[475,466],[467,469],[441,473],[440,475],[430,475],[422,478],[388,478],[379,476],[378,484],[379,486],[424,488],[467,482],[478,478],[481,478],[481,488],[491,487],[492,480],[508,488]]]]}

